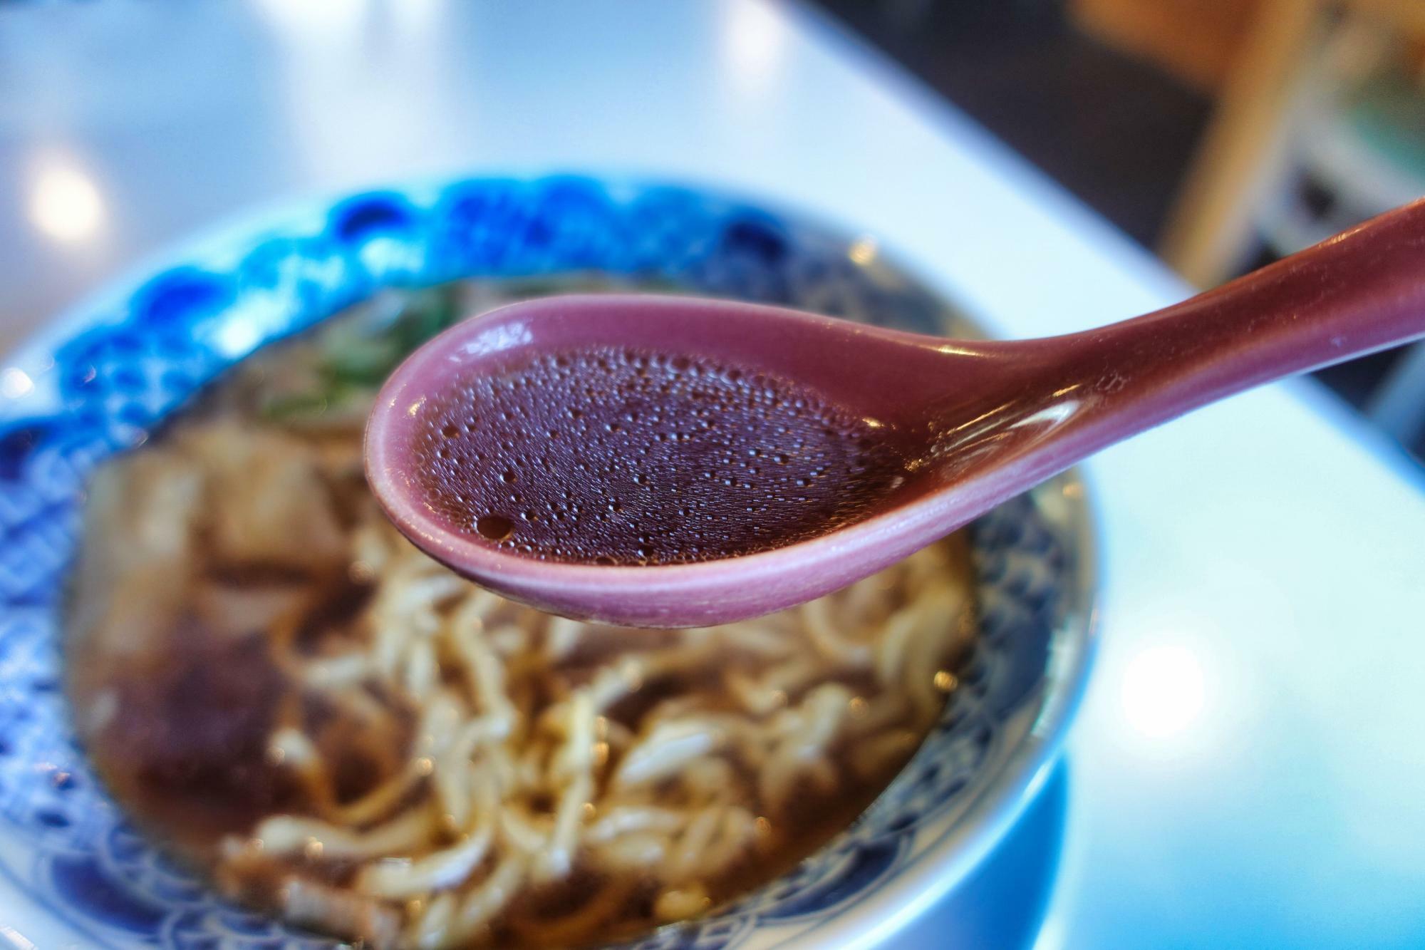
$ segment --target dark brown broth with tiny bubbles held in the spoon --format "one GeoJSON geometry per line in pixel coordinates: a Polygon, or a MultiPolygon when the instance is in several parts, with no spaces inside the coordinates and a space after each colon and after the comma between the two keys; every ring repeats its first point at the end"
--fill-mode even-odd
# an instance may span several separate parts
{"type": "Polygon", "coordinates": [[[779,548],[872,514],[906,471],[892,429],[807,387],[657,352],[544,355],[423,412],[426,504],[459,531],[549,561],[779,548]]]}

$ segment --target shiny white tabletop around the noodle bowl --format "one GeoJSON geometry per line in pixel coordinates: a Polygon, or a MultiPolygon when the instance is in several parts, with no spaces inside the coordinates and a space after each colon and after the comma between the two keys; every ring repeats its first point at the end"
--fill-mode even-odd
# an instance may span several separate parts
{"type": "MultiPolygon", "coordinates": [[[[20,3],[0,7],[0,351],[256,205],[544,168],[805,205],[1006,335],[1186,294],[802,7],[20,3]]],[[[1104,639],[1037,946],[1425,944],[1425,479],[1307,384],[1109,449],[1089,476],[1104,639]]],[[[943,946],[1006,873],[896,946],[943,946]]]]}

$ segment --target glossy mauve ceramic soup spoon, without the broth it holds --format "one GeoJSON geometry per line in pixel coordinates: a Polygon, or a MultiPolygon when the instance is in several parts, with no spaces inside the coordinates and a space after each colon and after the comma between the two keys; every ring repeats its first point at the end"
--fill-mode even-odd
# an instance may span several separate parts
{"type": "Polygon", "coordinates": [[[1418,337],[1425,337],[1425,201],[1181,304],[1047,339],[943,339],[715,300],[553,297],[465,321],[396,369],[366,431],[366,474],[408,538],[492,591],[566,616],[704,626],[801,603],[874,573],[1190,409],[1418,337]],[[477,374],[591,345],[698,355],[805,384],[912,438],[915,472],[861,521],[694,563],[539,561],[440,516],[412,448],[425,399],[477,374]]]}

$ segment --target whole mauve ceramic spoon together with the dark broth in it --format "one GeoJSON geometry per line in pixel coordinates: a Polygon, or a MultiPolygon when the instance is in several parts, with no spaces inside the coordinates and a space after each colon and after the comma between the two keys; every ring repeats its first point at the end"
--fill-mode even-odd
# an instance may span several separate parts
{"type": "Polygon", "coordinates": [[[969,341],[687,297],[453,327],[366,431],[396,525],[537,608],[703,626],[809,601],[1097,449],[1425,335],[1425,201],[1166,310],[969,341]]]}

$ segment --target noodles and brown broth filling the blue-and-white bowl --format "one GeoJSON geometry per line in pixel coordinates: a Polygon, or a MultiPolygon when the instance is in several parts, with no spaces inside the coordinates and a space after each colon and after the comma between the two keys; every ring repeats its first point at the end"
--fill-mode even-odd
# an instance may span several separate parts
{"type": "Polygon", "coordinates": [[[959,536],[695,630],[553,618],[420,553],[362,478],[370,399],[522,292],[390,294],[258,354],[86,506],[67,670],[100,773],[224,893],[368,946],[579,946],[715,909],[854,820],[975,635],[959,536]]]}

